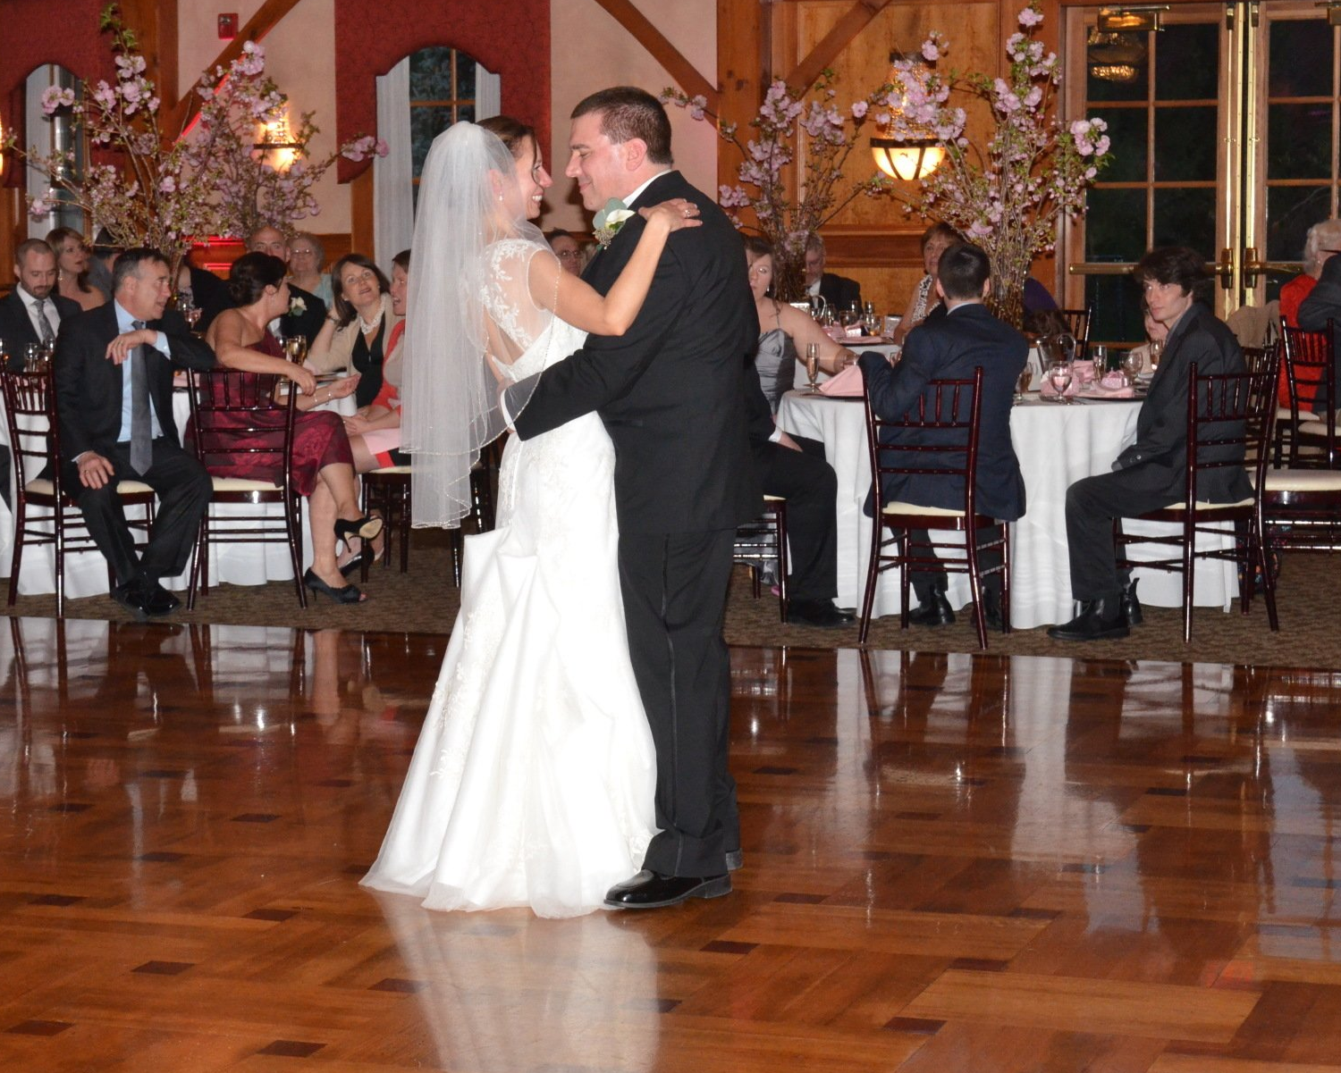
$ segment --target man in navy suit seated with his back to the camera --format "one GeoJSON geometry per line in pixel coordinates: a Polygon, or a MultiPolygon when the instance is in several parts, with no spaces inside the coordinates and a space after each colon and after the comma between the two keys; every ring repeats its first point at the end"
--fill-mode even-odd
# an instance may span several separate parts
{"type": "MultiPolygon", "coordinates": [[[[1029,358],[1029,344],[1025,336],[987,311],[983,303],[991,288],[991,265],[979,246],[959,242],[947,248],[940,255],[936,273],[936,295],[945,307],[945,315],[931,317],[908,334],[897,366],[890,367],[884,355],[874,351],[866,351],[857,360],[866,379],[870,409],[885,421],[915,413],[920,397],[931,398],[928,380],[968,380],[978,368],[983,370],[975,505],[980,514],[1015,521],[1025,513],[1025,478],[1010,438],[1010,407],[1015,383],[1029,358]]],[[[935,443],[944,442],[945,437],[945,433],[923,429],[886,429],[881,434],[888,443],[935,443]]],[[[911,457],[908,451],[897,454],[902,461],[911,457]]],[[[935,465],[937,457],[931,455],[919,465],[935,465]]],[[[884,504],[897,501],[952,509],[963,509],[964,505],[964,486],[959,477],[908,474],[902,480],[886,481],[884,493],[884,504]]],[[[873,509],[872,498],[866,501],[866,513],[873,509]]],[[[919,529],[911,530],[909,536],[915,541],[928,537],[925,530],[919,529]]],[[[990,529],[982,530],[979,544],[990,536],[990,529]]],[[[979,556],[983,569],[1000,561],[999,549],[984,548],[979,556]]],[[[944,571],[913,573],[909,580],[919,600],[919,607],[908,616],[909,622],[919,626],[955,622],[955,612],[945,599],[944,571]]],[[[991,575],[983,588],[987,626],[1000,630],[1000,575],[991,575]]]]}

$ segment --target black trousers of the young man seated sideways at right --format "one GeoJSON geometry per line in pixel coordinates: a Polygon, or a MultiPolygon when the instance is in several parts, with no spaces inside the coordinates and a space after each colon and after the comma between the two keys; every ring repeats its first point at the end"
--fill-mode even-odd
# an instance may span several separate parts
{"type": "Polygon", "coordinates": [[[1183,477],[1149,463],[1084,477],[1066,489],[1071,599],[1098,600],[1125,588],[1113,547],[1113,518],[1159,510],[1180,498],[1183,477]]]}

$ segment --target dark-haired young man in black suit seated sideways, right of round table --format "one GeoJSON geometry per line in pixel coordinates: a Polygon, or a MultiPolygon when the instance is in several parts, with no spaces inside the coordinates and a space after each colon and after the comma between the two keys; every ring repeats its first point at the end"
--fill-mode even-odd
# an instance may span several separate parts
{"type": "MultiPolygon", "coordinates": [[[[1058,640],[1125,638],[1129,627],[1140,623],[1136,583],[1117,569],[1113,518],[1183,500],[1188,368],[1195,364],[1200,375],[1247,371],[1234,332],[1196,301],[1195,289],[1206,279],[1200,253],[1185,246],[1156,248],[1141,257],[1133,275],[1151,319],[1168,330],[1164,356],[1136,419],[1136,442],[1117,455],[1113,473],[1085,477],[1066,489],[1071,596],[1081,601],[1081,612],[1047,631],[1058,640]]],[[[1242,447],[1238,454],[1242,458],[1242,447]]],[[[1196,497],[1202,501],[1236,502],[1251,494],[1242,469],[1212,469],[1198,476],[1196,497]]]]}

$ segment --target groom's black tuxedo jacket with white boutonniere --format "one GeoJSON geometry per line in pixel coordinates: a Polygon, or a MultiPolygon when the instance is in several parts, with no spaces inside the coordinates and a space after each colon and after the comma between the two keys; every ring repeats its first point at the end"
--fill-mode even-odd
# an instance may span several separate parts
{"type": "MultiPolygon", "coordinates": [[[[520,414],[512,411],[523,439],[591,410],[601,414],[614,441],[625,533],[734,529],[763,509],[743,394],[759,317],[740,236],[679,171],[658,175],[630,208],[673,197],[697,205],[703,226],[666,241],[637,320],[620,338],[590,336],[539,375],[520,414]]],[[[583,279],[609,291],[642,228],[641,216],[629,218],[583,279]]],[[[516,398],[531,386],[515,387],[516,398]]]]}

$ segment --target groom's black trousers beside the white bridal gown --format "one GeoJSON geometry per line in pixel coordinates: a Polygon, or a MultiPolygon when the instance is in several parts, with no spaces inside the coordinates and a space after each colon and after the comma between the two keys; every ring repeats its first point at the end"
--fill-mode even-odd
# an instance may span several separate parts
{"type": "Polygon", "coordinates": [[[657,749],[661,832],[642,867],[662,875],[725,875],[740,848],[721,639],[734,543],[734,529],[620,534],[629,654],[657,749]]]}

